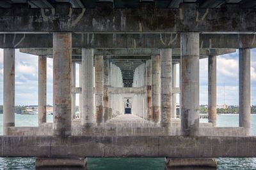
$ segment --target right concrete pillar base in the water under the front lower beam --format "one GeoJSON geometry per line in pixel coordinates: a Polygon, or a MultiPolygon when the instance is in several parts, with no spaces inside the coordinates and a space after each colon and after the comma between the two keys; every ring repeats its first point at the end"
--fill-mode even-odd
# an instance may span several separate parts
{"type": "Polygon", "coordinates": [[[209,159],[165,159],[165,169],[217,169],[217,160],[209,159]]]}

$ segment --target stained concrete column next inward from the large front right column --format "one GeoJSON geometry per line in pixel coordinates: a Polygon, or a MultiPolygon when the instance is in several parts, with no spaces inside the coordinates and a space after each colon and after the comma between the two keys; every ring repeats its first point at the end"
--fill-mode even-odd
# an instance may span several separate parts
{"type": "Polygon", "coordinates": [[[161,49],[161,125],[170,126],[172,112],[172,49],[161,49]]]}

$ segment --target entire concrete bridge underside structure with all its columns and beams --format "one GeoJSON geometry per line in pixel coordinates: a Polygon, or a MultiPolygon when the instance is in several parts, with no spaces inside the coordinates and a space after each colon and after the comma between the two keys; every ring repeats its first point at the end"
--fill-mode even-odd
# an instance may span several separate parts
{"type": "Polygon", "coordinates": [[[166,169],[256,157],[250,136],[254,1],[4,0],[0,7],[1,157],[37,157],[38,169],[86,169],[86,157],[166,157],[166,169]],[[15,48],[38,55],[38,127],[15,127],[15,48]],[[216,56],[237,48],[239,127],[216,127],[216,56]],[[53,123],[46,122],[47,57],[53,59],[53,123]],[[199,122],[202,58],[209,61],[205,124],[199,122]]]}

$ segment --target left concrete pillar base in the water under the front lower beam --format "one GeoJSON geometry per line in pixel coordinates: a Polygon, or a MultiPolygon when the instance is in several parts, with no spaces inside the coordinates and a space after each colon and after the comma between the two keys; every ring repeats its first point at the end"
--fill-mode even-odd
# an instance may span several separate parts
{"type": "Polygon", "coordinates": [[[79,169],[86,170],[84,158],[36,158],[36,170],[79,169]]]}

